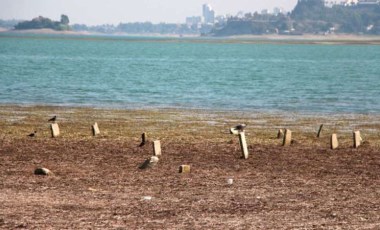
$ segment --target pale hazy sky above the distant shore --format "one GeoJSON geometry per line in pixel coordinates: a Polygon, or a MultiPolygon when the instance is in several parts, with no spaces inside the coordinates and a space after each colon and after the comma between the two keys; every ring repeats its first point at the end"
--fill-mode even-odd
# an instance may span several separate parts
{"type": "Polygon", "coordinates": [[[0,19],[30,20],[41,15],[59,20],[66,14],[71,24],[183,23],[187,16],[200,16],[204,3],[218,15],[235,15],[273,7],[290,11],[297,0],[0,0],[0,19]]]}

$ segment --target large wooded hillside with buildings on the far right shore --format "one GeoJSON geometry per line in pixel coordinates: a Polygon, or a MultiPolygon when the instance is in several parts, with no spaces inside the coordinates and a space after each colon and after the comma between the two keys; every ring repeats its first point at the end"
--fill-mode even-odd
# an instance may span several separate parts
{"type": "Polygon", "coordinates": [[[211,35],[236,34],[380,34],[380,5],[333,5],[323,0],[298,1],[288,14],[246,14],[216,26],[211,35]]]}

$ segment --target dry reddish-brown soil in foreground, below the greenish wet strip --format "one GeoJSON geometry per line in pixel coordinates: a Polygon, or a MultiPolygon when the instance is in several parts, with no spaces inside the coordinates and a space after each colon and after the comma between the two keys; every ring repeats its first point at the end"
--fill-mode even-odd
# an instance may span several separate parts
{"type": "Polygon", "coordinates": [[[379,229],[380,150],[0,136],[1,229],[379,229]],[[190,174],[178,173],[189,164],[190,174]],[[37,176],[37,167],[54,176],[37,176]],[[228,185],[227,179],[233,184],[228,185]],[[151,199],[147,199],[150,196],[151,199]],[[144,198],[145,197],[145,198],[144,198]]]}

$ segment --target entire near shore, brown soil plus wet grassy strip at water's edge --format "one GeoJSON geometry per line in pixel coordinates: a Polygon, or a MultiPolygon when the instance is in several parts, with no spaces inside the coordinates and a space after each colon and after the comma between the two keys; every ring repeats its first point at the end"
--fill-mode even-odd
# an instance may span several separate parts
{"type": "Polygon", "coordinates": [[[379,130],[377,115],[1,106],[0,229],[377,229],[379,130]],[[248,124],[247,160],[228,133],[238,123],[248,124]],[[293,131],[291,146],[279,128],[293,131]],[[149,142],[139,147],[142,132],[149,142]],[[141,170],[153,140],[163,155],[141,170]]]}

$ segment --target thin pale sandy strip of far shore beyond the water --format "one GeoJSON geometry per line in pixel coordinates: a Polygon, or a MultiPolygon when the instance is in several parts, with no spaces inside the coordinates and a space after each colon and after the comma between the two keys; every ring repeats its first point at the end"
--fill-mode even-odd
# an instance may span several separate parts
{"type": "Polygon", "coordinates": [[[88,31],[55,31],[52,29],[33,30],[9,30],[0,28],[0,34],[36,34],[36,35],[96,35],[96,36],[125,36],[125,37],[151,37],[151,38],[194,38],[202,40],[213,39],[217,42],[242,42],[242,43],[290,43],[290,44],[374,44],[380,45],[380,36],[355,35],[355,34],[331,34],[331,35],[234,35],[227,37],[201,37],[197,34],[129,34],[129,33],[94,33],[88,31]]]}

